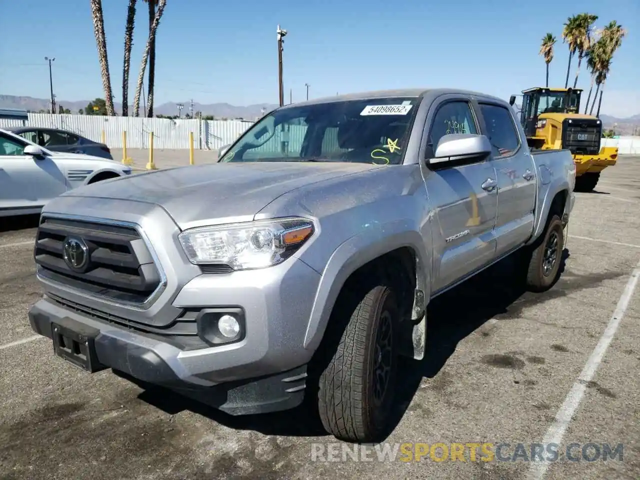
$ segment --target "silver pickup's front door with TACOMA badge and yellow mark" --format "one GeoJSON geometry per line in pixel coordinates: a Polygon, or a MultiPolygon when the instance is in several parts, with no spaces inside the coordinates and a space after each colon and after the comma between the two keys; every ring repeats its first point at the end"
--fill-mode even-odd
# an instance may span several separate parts
{"type": "MultiPolygon", "coordinates": [[[[435,108],[433,116],[429,115],[425,159],[433,157],[438,141],[445,134],[480,132],[476,108],[470,98],[459,95],[441,98],[432,107],[435,108]]],[[[495,182],[490,156],[465,159],[449,166],[427,165],[425,183],[436,216],[433,223],[434,293],[492,262],[496,248],[495,182]]]]}

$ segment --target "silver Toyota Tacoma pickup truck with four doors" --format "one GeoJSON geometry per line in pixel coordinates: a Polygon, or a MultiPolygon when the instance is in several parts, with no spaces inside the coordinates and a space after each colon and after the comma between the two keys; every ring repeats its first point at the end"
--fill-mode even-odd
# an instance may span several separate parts
{"type": "Polygon", "coordinates": [[[232,415],[306,398],[337,438],[374,441],[431,299],[513,253],[531,290],[552,287],[574,182],[568,150],[532,152],[481,93],[291,104],[218,163],[47,204],[29,320],[86,371],[232,415]]]}

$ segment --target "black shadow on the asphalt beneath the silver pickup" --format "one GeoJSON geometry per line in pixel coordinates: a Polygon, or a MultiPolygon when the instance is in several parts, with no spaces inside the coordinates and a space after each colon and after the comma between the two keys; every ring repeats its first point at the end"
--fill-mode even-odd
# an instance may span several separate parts
{"type": "MultiPolygon", "coordinates": [[[[565,249],[561,273],[568,257],[568,250],[565,249]]],[[[492,318],[517,316],[517,312],[512,311],[517,308],[510,307],[523,296],[526,296],[527,304],[531,305],[554,298],[558,294],[564,295],[563,291],[554,294],[554,289],[544,294],[526,292],[521,282],[513,281],[517,276],[515,268],[515,257],[509,257],[431,301],[428,308],[425,358],[421,361],[401,359],[399,371],[402,372],[402,379],[397,384],[396,407],[385,437],[399,424],[422,380],[438,374],[461,340],[492,318]]],[[[136,383],[140,385],[139,382],[136,383]]],[[[308,404],[285,412],[234,417],[161,387],[145,388],[147,389],[139,398],[172,415],[189,410],[228,428],[258,431],[264,435],[328,435],[308,404]]],[[[312,393],[313,390],[310,390],[310,394],[312,393]]]]}

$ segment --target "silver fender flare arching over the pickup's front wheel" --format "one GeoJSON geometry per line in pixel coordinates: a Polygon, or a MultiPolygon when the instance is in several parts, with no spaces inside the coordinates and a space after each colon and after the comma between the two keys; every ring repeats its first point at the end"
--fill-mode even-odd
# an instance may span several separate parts
{"type": "MultiPolygon", "coordinates": [[[[415,230],[410,220],[397,220],[376,225],[372,230],[349,238],[333,251],[317,287],[305,333],[303,344],[305,349],[318,348],[333,305],[349,275],[367,262],[402,247],[410,247],[415,251],[418,266],[425,268],[431,265],[431,262],[426,261],[425,258],[424,239],[420,232],[415,230]]],[[[428,284],[428,273],[424,275],[419,273],[417,277],[428,284]]],[[[420,287],[426,288],[424,285],[419,285],[418,288],[420,287]]]]}

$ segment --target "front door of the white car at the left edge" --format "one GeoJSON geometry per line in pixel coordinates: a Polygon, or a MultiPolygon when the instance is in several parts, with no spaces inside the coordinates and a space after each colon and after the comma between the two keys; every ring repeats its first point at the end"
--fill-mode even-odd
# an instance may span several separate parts
{"type": "Polygon", "coordinates": [[[25,155],[29,145],[0,132],[0,209],[42,207],[65,193],[65,175],[51,157],[25,155]]]}

